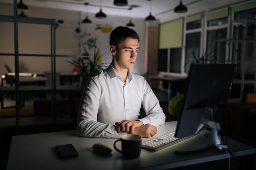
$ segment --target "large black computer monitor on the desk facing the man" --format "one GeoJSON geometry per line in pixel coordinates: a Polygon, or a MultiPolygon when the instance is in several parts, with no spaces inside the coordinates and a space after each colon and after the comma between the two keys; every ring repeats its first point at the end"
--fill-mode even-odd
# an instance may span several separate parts
{"type": "Polygon", "coordinates": [[[236,64],[191,64],[175,137],[195,135],[210,127],[213,145],[222,150],[217,120],[222,109],[218,105],[225,106],[235,71],[236,64]]]}

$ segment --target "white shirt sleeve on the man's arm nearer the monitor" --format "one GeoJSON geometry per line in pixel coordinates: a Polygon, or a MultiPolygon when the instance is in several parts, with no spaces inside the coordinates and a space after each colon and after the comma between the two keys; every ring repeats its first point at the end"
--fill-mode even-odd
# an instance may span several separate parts
{"type": "Polygon", "coordinates": [[[159,104],[159,100],[155,96],[155,93],[149,86],[146,79],[144,79],[144,97],[142,106],[146,112],[146,117],[139,119],[143,124],[152,124],[154,126],[161,126],[165,123],[166,116],[159,104]]]}

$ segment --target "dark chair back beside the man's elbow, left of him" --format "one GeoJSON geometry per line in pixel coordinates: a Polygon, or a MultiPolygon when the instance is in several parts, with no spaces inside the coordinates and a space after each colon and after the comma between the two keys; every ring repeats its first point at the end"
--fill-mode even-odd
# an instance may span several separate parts
{"type": "Polygon", "coordinates": [[[79,110],[79,105],[81,101],[82,93],[68,93],[68,99],[70,100],[71,110],[72,110],[72,125],[74,130],[77,130],[77,115],[79,110]]]}

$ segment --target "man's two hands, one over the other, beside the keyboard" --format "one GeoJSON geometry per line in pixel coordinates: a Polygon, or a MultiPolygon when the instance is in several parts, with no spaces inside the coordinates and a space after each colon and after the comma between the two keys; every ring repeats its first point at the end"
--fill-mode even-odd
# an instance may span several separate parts
{"type": "Polygon", "coordinates": [[[141,137],[153,137],[157,133],[157,127],[146,124],[143,125],[141,121],[128,121],[123,120],[120,122],[116,122],[117,132],[127,132],[129,134],[140,135],[141,137]]]}

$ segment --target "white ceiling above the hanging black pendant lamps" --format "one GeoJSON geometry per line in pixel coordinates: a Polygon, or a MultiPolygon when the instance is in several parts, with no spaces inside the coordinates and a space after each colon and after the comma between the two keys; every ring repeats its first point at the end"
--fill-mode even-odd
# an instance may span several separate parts
{"type": "MultiPolygon", "coordinates": [[[[17,2],[19,1],[17,0],[17,2]]],[[[182,0],[182,3],[188,8],[185,16],[189,16],[245,1],[248,0],[182,0]]],[[[123,7],[115,6],[113,2],[114,0],[23,0],[23,3],[28,7],[64,9],[95,14],[99,12],[101,7],[102,12],[107,16],[146,18],[151,11],[159,22],[184,16],[184,13],[174,13],[174,8],[180,4],[180,0],[128,0],[128,6],[123,7]],[[85,2],[88,2],[89,5],[85,6],[85,2]],[[132,9],[129,10],[131,7],[132,9]]],[[[13,0],[1,0],[0,4],[13,5],[13,0]]]]}

